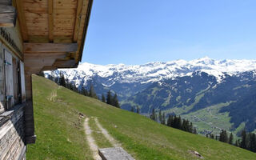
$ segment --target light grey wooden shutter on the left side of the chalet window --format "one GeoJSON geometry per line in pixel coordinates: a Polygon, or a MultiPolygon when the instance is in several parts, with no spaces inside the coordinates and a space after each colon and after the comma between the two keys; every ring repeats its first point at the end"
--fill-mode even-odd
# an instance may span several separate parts
{"type": "Polygon", "coordinates": [[[13,57],[7,50],[4,50],[4,54],[6,68],[6,108],[10,109],[14,105],[13,57]]]}

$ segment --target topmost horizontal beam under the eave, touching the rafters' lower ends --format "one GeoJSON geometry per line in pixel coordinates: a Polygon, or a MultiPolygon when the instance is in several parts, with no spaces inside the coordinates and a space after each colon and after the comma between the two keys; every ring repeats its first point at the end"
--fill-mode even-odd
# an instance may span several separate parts
{"type": "Polygon", "coordinates": [[[78,50],[78,43],[24,43],[23,50],[26,53],[76,52],[78,50]]]}

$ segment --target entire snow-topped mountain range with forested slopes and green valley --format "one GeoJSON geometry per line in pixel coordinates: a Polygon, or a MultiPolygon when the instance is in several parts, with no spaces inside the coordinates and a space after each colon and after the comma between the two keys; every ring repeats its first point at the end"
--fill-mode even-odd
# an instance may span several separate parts
{"type": "Polygon", "coordinates": [[[256,128],[256,60],[149,62],[126,66],[82,63],[77,69],[46,71],[65,78],[78,88],[92,84],[98,95],[118,94],[122,109],[139,107],[181,115],[198,126],[201,134],[256,128]]]}

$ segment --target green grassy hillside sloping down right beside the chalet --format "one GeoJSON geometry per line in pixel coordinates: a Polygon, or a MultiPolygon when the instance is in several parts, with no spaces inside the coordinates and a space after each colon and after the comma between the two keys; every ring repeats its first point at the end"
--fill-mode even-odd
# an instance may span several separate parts
{"type": "MultiPolygon", "coordinates": [[[[108,106],[96,99],[59,87],[46,78],[33,76],[34,121],[38,136],[29,145],[27,159],[92,159],[83,131],[84,119],[98,117],[109,133],[136,159],[255,159],[256,154],[200,135],[163,126],[138,114],[108,106]]],[[[94,122],[90,123],[96,128],[94,122]]],[[[108,147],[93,134],[99,146],[108,147]],[[100,144],[102,142],[102,144],[100,144]]]]}

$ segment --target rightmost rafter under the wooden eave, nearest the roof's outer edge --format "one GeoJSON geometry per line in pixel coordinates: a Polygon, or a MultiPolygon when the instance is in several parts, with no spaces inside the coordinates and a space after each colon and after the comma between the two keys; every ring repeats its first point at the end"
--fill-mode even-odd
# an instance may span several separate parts
{"type": "Polygon", "coordinates": [[[74,22],[74,36],[73,36],[73,41],[77,42],[78,41],[78,32],[79,32],[79,27],[80,27],[80,22],[81,22],[81,12],[82,12],[82,0],[78,0],[78,5],[77,5],[77,14],[74,22]]]}

